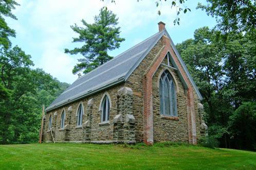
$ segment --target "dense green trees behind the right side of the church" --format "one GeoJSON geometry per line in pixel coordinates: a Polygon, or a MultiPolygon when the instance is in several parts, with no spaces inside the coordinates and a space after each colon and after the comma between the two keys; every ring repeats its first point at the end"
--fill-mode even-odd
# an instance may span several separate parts
{"type": "MultiPolygon", "coordinates": [[[[235,143],[245,142],[245,138],[235,139],[240,141],[232,138],[235,132],[243,129],[242,123],[232,121],[232,117],[240,113],[237,109],[243,102],[255,102],[256,99],[256,46],[251,36],[250,33],[223,34],[204,27],[195,30],[194,39],[177,45],[204,96],[209,134],[218,138],[222,147],[241,148],[235,143]],[[240,129],[232,129],[231,122],[237,123],[240,129]]],[[[253,125],[251,121],[247,123],[253,125]]],[[[253,142],[247,148],[252,145],[253,142]]]]}

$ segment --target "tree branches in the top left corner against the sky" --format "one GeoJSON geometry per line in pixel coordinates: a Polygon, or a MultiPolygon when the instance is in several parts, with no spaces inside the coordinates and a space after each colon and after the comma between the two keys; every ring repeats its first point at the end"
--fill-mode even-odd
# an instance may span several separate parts
{"type": "Polygon", "coordinates": [[[11,10],[15,9],[17,5],[19,4],[13,0],[0,0],[0,48],[4,47],[7,49],[11,44],[8,37],[15,37],[15,31],[7,25],[4,16],[17,19],[11,13],[11,10]]]}

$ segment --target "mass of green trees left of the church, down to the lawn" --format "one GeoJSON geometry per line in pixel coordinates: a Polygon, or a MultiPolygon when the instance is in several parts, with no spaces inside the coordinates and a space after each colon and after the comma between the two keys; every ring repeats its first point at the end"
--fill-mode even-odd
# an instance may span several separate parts
{"type": "Polygon", "coordinates": [[[17,46],[3,50],[0,63],[0,143],[35,142],[42,104],[49,105],[68,84],[31,69],[31,56],[17,46]]]}

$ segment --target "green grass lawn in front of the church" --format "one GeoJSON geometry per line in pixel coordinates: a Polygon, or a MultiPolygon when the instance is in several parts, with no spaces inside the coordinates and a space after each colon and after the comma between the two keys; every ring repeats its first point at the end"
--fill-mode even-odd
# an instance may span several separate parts
{"type": "Polygon", "coordinates": [[[256,153],[192,145],[0,145],[0,169],[256,169],[256,153]]]}

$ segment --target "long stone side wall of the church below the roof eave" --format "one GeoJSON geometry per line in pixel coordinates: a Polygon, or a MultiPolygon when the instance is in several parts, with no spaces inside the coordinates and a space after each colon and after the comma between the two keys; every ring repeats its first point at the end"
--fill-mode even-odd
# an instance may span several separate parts
{"type": "Polygon", "coordinates": [[[52,142],[53,136],[55,142],[134,143],[135,118],[132,108],[132,90],[125,88],[124,84],[119,84],[81,101],[46,113],[43,142],[52,142]],[[100,102],[105,95],[109,98],[111,108],[109,109],[109,121],[101,123],[100,102]],[[82,104],[83,110],[82,126],[77,126],[77,111],[80,104],[82,104]],[[66,113],[65,124],[64,129],[60,129],[63,110],[66,113]],[[51,131],[48,130],[50,115],[52,115],[51,131]],[[121,115],[121,119],[114,122],[114,118],[118,115],[121,115]],[[117,128],[117,122],[122,126],[117,128]],[[121,135],[115,135],[117,129],[122,132],[121,135]]]}

